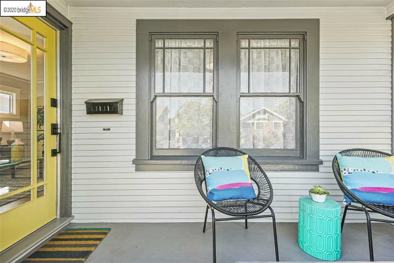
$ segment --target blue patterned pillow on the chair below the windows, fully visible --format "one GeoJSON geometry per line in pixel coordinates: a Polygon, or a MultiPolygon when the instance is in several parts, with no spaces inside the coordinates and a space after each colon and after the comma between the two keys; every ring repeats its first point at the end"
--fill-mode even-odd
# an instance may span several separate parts
{"type": "Polygon", "coordinates": [[[248,155],[201,156],[205,169],[207,197],[211,201],[256,198],[248,168],[248,155]]]}

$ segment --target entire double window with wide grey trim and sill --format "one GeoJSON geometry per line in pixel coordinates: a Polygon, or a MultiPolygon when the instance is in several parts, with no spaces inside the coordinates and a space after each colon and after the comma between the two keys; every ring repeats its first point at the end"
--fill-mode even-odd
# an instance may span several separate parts
{"type": "Polygon", "coordinates": [[[319,170],[319,20],[137,20],[136,50],[137,171],[213,147],[319,170]]]}

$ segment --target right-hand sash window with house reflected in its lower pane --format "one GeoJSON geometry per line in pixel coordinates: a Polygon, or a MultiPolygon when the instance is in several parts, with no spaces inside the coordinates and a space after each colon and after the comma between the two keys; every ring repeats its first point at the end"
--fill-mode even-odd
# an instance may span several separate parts
{"type": "Polygon", "coordinates": [[[304,36],[238,33],[237,43],[239,148],[257,156],[301,156],[304,36]],[[263,128],[254,128],[260,123],[263,128]]]}

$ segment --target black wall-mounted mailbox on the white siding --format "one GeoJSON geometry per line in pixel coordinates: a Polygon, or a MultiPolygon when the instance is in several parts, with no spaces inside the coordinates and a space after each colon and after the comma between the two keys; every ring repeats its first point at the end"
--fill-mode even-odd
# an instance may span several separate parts
{"type": "Polygon", "coordinates": [[[85,104],[88,115],[123,115],[123,99],[89,99],[85,104]]]}

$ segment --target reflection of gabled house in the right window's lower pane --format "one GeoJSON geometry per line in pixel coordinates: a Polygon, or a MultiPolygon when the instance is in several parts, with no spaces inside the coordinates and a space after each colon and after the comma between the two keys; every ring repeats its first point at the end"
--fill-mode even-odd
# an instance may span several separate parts
{"type": "Polygon", "coordinates": [[[284,149],[286,121],[286,117],[266,107],[245,114],[241,117],[241,148],[284,149]]]}

